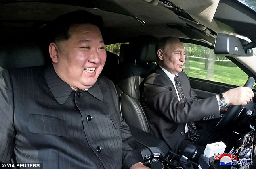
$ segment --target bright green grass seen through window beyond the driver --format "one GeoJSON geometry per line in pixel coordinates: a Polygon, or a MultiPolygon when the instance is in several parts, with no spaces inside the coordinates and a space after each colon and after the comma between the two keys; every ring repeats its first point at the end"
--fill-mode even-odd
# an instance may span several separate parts
{"type": "Polygon", "coordinates": [[[248,76],[239,67],[227,67],[214,65],[214,75],[212,78],[207,79],[207,70],[204,69],[204,62],[200,61],[189,61],[190,71],[186,71],[184,67],[184,72],[189,77],[200,78],[205,80],[211,80],[215,82],[227,83],[231,85],[243,86],[248,76]]]}

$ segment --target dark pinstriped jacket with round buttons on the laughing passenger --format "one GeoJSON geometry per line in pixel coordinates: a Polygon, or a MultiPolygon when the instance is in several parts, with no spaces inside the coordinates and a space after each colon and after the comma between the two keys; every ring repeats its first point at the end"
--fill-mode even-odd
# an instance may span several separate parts
{"type": "Polygon", "coordinates": [[[88,91],[73,91],[52,66],[4,70],[0,117],[2,162],[120,169],[142,160],[104,76],[88,91]]]}

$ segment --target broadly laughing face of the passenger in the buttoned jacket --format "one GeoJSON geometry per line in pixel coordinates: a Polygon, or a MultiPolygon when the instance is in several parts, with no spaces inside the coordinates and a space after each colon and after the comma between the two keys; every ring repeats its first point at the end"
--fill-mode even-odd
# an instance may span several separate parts
{"type": "Polygon", "coordinates": [[[106,50],[96,25],[72,25],[69,39],[55,43],[52,57],[57,75],[74,89],[88,89],[96,82],[106,62],[106,50]]]}

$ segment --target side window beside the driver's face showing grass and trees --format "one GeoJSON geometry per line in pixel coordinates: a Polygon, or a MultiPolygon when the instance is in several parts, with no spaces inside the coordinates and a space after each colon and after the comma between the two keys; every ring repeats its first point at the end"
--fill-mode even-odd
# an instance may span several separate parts
{"type": "Polygon", "coordinates": [[[215,55],[212,49],[183,43],[186,61],[183,71],[193,78],[243,86],[248,75],[225,56],[215,55]]]}

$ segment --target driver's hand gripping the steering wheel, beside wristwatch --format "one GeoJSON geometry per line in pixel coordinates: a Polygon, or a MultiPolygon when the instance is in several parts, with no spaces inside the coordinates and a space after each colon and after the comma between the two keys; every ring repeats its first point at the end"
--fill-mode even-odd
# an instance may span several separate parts
{"type": "Polygon", "coordinates": [[[246,105],[254,97],[254,93],[249,87],[237,87],[229,89],[223,93],[228,105],[246,105]]]}

